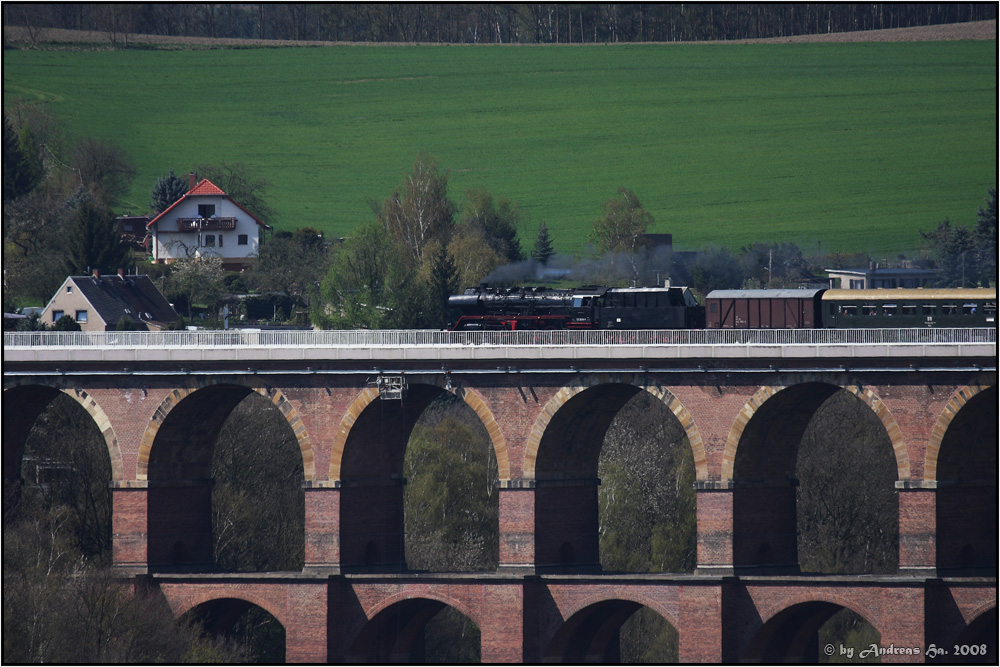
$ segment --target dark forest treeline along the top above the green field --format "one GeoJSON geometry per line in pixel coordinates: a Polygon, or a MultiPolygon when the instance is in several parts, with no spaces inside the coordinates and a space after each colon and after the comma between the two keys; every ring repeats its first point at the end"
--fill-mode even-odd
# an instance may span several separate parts
{"type": "MultiPolygon", "coordinates": [[[[5,26],[260,40],[741,40],[996,19],[994,3],[5,3],[5,26]]],[[[32,38],[34,42],[35,39],[32,38]]]]}

